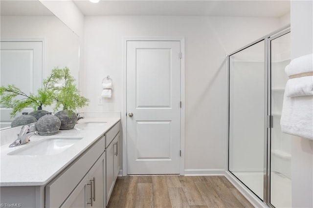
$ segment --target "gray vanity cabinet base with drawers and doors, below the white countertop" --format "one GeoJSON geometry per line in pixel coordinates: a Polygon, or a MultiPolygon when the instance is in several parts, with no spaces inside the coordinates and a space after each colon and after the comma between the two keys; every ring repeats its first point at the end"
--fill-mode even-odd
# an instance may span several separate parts
{"type": "Polygon", "coordinates": [[[16,204],[19,196],[22,207],[105,208],[120,169],[119,132],[117,122],[43,186],[1,187],[1,203],[16,204]]]}

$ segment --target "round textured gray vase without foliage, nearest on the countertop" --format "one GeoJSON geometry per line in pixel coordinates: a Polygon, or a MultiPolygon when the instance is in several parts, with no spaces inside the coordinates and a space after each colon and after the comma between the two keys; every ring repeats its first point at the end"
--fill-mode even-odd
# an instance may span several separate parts
{"type": "Polygon", "coordinates": [[[40,135],[47,136],[58,133],[61,126],[61,121],[58,117],[47,113],[45,116],[38,119],[36,123],[37,131],[40,135]]]}

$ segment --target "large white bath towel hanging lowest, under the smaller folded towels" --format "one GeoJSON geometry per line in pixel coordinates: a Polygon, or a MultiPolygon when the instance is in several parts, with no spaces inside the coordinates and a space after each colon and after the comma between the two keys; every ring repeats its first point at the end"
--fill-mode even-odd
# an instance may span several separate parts
{"type": "Polygon", "coordinates": [[[313,140],[313,96],[284,95],[280,120],[282,132],[313,140]]]}

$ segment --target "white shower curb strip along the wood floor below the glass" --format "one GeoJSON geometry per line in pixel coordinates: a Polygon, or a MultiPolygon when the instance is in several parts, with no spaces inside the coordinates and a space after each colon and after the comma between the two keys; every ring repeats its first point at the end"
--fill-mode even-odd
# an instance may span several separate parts
{"type": "Polygon", "coordinates": [[[245,197],[246,199],[256,208],[268,208],[268,206],[261,201],[257,196],[255,196],[251,191],[242,184],[235,176],[233,176],[229,171],[224,172],[227,180],[234,185],[245,197]]]}

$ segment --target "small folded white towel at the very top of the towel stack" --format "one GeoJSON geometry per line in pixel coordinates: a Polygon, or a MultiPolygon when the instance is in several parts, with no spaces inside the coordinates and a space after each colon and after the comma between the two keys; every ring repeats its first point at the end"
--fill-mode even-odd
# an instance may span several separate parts
{"type": "Polygon", "coordinates": [[[285,68],[288,76],[313,71],[313,54],[293,59],[285,68]]]}

